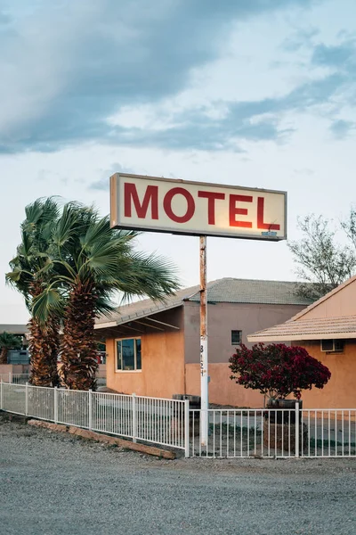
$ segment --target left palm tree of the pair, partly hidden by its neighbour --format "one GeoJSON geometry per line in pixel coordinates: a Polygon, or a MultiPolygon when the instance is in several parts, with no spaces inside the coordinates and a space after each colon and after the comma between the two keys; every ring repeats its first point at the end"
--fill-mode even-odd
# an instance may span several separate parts
{"type": "MultiPolygon", "coordinates": [[[[33,301],[51,281],[53,267],[52,235],[60,215],[53,199],[37,199],[26,209],[21,224],[21,243],[10,262],[12,271],[6,274],[9,284],[25,298],[31,313],[33,301]]],[[[59,383],[57,355],[59,351],[59,318],[49,315],[45,324],[36,317],[28,323],[28,350],[31,362],[30,382],[36,386],[56,386],[59,383]]]]}

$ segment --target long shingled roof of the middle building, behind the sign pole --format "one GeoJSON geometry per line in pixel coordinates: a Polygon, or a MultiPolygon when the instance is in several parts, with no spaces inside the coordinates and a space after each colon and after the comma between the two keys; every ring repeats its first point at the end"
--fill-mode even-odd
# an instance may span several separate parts
{"type": "MultiPolygon", "coordinates": [[[[254,279],[223,278],[207,284],[207,300],[213,302],[257,303],[271,305],[305,306],[311,300],[295,294],[298,283],[262,281],[254,279]]],[[[96,321],[95,329],[124,324],[127,321],[158,314],[182,306],[184,301],[200,300],[199,286],[190,286],[167,296],[163,302],[150,299],[139,300],[119,307],[109,318],[101,317],[96,321]]]]}

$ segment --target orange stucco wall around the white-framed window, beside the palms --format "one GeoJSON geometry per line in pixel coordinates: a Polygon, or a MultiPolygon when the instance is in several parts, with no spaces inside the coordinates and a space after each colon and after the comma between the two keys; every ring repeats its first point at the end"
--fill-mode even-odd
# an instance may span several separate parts
{"type": "Polygon", "coordinates": [[[107,340],[107,385],[125,394],[172,398],[184,393],[182,331],[142,334],[142,371],[117,372],[115,339],[107,340]]]}

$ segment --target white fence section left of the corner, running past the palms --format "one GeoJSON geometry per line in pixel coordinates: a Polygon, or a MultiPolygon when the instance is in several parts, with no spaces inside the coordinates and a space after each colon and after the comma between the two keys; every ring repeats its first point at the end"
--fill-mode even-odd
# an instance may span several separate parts
{"type": "Polygon", "coordinates": [[[0,409],[187,451],[188,400],[0,382],[0,409]]]}

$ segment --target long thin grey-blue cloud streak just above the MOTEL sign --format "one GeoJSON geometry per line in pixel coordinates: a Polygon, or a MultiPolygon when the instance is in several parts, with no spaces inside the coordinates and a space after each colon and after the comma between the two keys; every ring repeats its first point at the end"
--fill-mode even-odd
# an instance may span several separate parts
{"type": "MultiPolygon", "coordinates": [[[[225,103],[223,117],[214,117],[201,107],[173,114],[170,118],[174,124],[172,127],[157,130],[147,126],[117,126],[112,129],[111,136],[119,144],[135,146],[244,152],[240,146],[243,141],[285,140],[294,131],[293,128],[280,126],[287,113],[322,108],[340,91],[345,81],[343,74],[330,74],[311,80],[280,97],[225,103]]],[[[158,108],[157,113],[160,112],[158,108]]]]}

